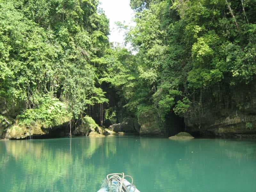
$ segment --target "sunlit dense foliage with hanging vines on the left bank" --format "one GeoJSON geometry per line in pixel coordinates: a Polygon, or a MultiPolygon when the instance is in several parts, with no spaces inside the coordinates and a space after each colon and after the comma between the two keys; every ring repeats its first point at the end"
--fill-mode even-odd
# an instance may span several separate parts
{"type": "Polygon", "coordinates": [[[54,126],[55,118],[78,119],[88,105],[107,101],[91,62],[109,47],[98,4],[0,1],[0,113],[54,126]]]}

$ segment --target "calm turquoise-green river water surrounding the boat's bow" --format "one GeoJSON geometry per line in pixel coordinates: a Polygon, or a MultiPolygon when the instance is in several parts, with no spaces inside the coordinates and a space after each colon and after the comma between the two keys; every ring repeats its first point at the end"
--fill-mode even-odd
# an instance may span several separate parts
{"type": "Polygon", "coordinates": [[[0,191],[96,192],[124,172],[141,192],[256,191],[256,141],[142,137],[0,141],[0,191]]]}

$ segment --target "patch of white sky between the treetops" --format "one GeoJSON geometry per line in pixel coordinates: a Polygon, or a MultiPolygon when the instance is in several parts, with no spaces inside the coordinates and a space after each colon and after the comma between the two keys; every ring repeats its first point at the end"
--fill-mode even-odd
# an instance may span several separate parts
{"type": "MultiPolygon", "coordinates": [[[[115,23],[120,21],[124,25],[135,25],[132,21],[134,12],[130,7],[130,0],[100,0],[100,3],[99,8],[102,8],[109,19],[109,41],[124,45],[125,33],[123,30],[119,30],[115,23]]],[[[127,44],[126,48],[132,49],[130,44],[127,44]]]]}

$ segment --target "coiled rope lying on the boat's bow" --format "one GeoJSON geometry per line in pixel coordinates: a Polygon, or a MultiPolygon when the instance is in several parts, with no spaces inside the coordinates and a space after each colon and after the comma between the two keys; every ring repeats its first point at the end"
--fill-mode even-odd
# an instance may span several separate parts
{"type": "Polygon", "coordinates": [[[136,190],[132,177],[130,175],[124,175],[124,173],[108,174],[106,183],[109,192],[134,192],[136,190]],[[130,178],[132,180],[131,184],[125,185],[125,178],[130,178]],[[131,191],[131,188],[133,188],[133,191],[131,191]]]}

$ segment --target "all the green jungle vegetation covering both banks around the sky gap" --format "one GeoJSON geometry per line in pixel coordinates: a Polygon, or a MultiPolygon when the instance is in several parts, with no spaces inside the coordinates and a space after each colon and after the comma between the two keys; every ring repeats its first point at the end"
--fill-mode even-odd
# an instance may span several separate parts
{"type": "Polygon", "coordinates": [[[104,125],[148,112],[163,124],[213,85],[255,76],[255,0],[131,0],[136,26],[119,25],[136,54],[109,43],[98,5],[0,0],[2,125],[86,115],[104,125]]]}

